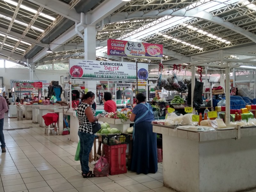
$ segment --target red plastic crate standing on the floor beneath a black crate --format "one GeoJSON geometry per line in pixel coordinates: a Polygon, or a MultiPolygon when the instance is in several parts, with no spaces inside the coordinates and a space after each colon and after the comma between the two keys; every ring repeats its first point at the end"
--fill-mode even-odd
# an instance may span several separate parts
{"type": "Polygon", "coordinates": [[[105,145],[105,158],[109,164],[109,174],[117,175],[126,173],[126,144],[105,145]]]}

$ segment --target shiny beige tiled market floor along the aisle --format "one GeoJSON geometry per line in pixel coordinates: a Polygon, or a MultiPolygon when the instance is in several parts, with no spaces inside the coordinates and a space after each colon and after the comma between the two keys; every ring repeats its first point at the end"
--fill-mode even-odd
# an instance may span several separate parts
{"type": "Polygon", "coordinates": [[[74,161],[77,143],[67,140],[67,135],[45,136],[41,127],[4,130],[4,134],[7,152],[0,153],[0,192],[172,192],[163,187],[162,164],[156,174],[127,172],[84,179],[80,163],[74,161]]]}

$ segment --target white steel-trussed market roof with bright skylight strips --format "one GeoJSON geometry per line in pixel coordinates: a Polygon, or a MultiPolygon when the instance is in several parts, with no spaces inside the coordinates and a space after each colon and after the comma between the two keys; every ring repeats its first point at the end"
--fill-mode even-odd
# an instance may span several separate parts
{"type": "Polygon", "coordinates": [[[26,59],[39,65],[83,59],[84,42],[75,31],[81,12],[90,13],[88,24],[98,28],[98,60],[107,59],[107,40],[117,38],[163,44],[166,65],[188,63],[191,55],[220,49],[252,53],[255,1],[0,0],[0,59],[22,65],[26,59]],[[46,52],[49,43],[52,53],[46,52]]]}

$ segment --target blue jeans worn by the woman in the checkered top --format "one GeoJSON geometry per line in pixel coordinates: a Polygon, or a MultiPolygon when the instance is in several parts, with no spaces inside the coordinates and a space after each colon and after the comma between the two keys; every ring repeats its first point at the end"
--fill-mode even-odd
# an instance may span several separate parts
{"type": "Polygon", "coordinates": [[[87,174],[90,171],[90,168],[88,165],[89,154],[92,150],[94,134],[78,131],[78,136],[80,138],[79,158],[80,158],[81,170],[84,174],[87,174]]]}

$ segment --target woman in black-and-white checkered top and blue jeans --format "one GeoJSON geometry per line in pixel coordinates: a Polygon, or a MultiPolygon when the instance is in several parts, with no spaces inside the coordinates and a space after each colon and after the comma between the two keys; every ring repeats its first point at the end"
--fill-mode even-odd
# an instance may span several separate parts
{"type": "Polygon", "coordinates": [[[92,149],[94,134],[92,133],[92,123],[98,121],[95,117],[95,110],[92,108],[95,94],[87,92],[81,98],[81,103],[77,108],[77,118],[79,120],[78,136],[80,138],[80,164],[84,178],[95,177],[89,170],[89,154],[92,149]]]}

